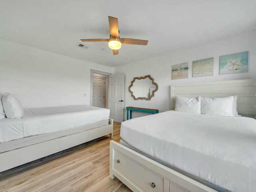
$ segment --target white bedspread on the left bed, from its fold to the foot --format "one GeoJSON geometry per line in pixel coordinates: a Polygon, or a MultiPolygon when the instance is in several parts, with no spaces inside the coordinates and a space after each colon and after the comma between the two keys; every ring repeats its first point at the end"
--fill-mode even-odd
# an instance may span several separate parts
{"type": "Polygon", "coordinates": [[[109,109],[86,105],[24,109],[24,137],[108,120],[109,113],[109,109]]]}

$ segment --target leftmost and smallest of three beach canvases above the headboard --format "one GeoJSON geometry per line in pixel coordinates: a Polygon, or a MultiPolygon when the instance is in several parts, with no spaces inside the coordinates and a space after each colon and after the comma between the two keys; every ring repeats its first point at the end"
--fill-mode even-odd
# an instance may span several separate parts
{"type": "Polygon", "coordinates": [[[172,79],[188,78],[188,62],[172,65],[172,79]]]}

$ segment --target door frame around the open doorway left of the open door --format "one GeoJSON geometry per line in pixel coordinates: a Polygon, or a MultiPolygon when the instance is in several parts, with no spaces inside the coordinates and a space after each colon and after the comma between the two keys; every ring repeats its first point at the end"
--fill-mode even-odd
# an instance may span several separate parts
{"type": "Polygon", "coordinates": [[[91,82],[90,82],[90,106],[92,106],[92,88],[93,88],[93,84],[92,84],[92,78],[93,76],[101,76],[101,77],[106,77],[106,89],[105,89],[105,95],[106,95],[106,108],[108,109],[108,76],[111,75],[112,73],[108,73],[108,72],[103,72],[103,71],[97,71],[97,70],[90,70],[91,72],[91,82]]]}

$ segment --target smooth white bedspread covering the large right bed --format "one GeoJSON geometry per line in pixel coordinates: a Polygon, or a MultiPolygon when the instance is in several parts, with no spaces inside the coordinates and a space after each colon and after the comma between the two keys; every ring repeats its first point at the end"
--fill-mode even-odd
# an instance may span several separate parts
{"type": "Polygon", "coordinates": [[[131,146],[233,192],[256,191],[256,120],[167,111],[122,122],[131,146]]]}

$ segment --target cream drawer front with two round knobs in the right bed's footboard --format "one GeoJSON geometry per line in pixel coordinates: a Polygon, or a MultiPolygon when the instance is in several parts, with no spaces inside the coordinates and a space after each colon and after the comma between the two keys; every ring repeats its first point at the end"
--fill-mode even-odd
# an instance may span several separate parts
{"type": "Polygon", "coordinates": [[[114,168],[140,186],[142,191],[164,191],[164,179],[162,177],[118,151],[114,154],[114,168]]]}

